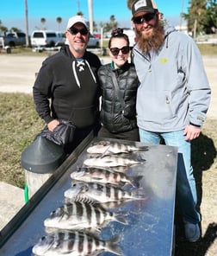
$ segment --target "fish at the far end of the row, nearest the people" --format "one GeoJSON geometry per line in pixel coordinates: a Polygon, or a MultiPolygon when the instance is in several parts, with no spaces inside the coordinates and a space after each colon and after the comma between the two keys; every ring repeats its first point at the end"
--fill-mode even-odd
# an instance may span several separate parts
{"type": "Polygon", "coordinates": [[[102,141],[102,142],[99,142],[98,144],[90,146],[87,149],[87,152],[90,154],[103,154],[105,156],[105,155],[111,155],[111,154],[129,153],[129,152],[139,151],[139,150],[147,150],[147,146],[135,147],[133,145],[102,141]]]}

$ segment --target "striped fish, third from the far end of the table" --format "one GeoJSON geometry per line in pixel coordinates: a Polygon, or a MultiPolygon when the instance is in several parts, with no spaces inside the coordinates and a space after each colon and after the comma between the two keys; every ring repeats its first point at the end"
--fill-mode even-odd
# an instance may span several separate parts
{"type": "Polygon", "coordinates": [[[97,169],[95,167],[82,167],[71,172],[71,178],[82,182],[109,183],[121,187],[124,184],[130,184],[133,187],[140,186],[142,176],[128,177],[124,173],[112,172],[109,170],[97,169]]]}

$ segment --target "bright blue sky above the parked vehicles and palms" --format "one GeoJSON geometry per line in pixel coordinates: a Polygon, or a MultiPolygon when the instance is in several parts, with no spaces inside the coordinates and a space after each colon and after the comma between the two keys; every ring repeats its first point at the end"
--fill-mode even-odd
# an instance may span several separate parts
{"type": "MultiPolygon", "coordinates": [[[[109,17],[115,15],[120,27],[131,27],[131,12],[127,9],[127,0],[92,0],[93,19],[100,22],[109,22],[109,17]]],[[[173,25],[180,22],[180,12],[187,12],[189,0],[156,0],[158,10],[173,25]]],[[[88,13],[88,0],[28,0],[28,31],[41,28],[40,18],[46,19],[46,29],[65,30],[68,18],[77,14],[78,10],[88,13]],[[60,28],[56,18],[60,16],[60,28]]],[[[25,31],[24,0],[0,0],[0,20],[3,26],[10,29],[15,27],[25,31]]]]}

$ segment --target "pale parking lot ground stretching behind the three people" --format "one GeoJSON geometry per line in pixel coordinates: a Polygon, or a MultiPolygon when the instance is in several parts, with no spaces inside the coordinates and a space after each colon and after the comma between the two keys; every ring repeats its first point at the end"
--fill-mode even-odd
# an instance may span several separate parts
{"type": "MultiPolygon", "coordinates": [[[[0,92],[32,93],[35,73],[39,71],[45,58],[45,55],[38,54],[0,54],[0,92]]],[[[203,61],[212,88],[208,118],[217,118],[217,55],[203,56],[203,61]]],[[[108,63],[109,57],[102,57],[102,62],[108,63]]]]}

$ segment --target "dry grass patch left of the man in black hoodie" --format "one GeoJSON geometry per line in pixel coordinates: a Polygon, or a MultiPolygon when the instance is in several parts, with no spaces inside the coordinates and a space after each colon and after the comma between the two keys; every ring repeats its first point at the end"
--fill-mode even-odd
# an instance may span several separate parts
{"type": "Polygon", "coordinates": [[[23,188],[22,151],[34,140],[44,122],[34,110],[31,95],[0,93],[0,99],[1,181],[23,188]]]}

